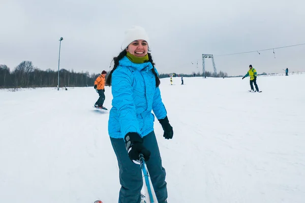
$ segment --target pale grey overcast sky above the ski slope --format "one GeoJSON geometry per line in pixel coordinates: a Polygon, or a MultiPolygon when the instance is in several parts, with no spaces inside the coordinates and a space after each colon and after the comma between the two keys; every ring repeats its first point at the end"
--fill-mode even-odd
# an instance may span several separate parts
{"type": "Polygon", "coordinates": [[[63,37],[60,68],[108,71],[125,30],[140,25],[159,73],[202,73],[202,53],[228,75],[245,75],[249,64],[258,73],[305,71],[305,45],[219,56],[305,43],[304,8],[303,0],[0,0],[0,64],[57,70],[63,37]]]}

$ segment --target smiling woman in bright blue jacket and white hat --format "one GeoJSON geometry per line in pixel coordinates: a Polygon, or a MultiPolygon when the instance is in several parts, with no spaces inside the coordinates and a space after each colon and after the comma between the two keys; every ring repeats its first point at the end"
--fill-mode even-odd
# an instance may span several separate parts
{"type": "Polygon", "coordinates": [[[113,58],[114,67],[106,80],[113,95],[108,132],[119,166],[119,203],[140,202],[143,180],[140,165],[135,164],[139,163],[139,153],[144,155],[158,202],[167,202],[166,174],[154,133],[155,116],[165,139],[172,139],[173,128],[162,103],[160,80],[148,46],[142,27],[128,29],[123,51],[113,58]]]}

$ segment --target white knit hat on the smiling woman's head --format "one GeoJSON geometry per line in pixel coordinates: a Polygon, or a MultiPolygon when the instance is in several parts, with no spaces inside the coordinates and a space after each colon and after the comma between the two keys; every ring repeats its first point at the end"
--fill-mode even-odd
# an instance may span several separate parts
{"type": "Polygon", "coordinates": [[[149,46],[149,38],[143,27],[134,25],[125,31],[125,38],[121,50],[126,49],[135,40],[145,40],[149,46]]]}

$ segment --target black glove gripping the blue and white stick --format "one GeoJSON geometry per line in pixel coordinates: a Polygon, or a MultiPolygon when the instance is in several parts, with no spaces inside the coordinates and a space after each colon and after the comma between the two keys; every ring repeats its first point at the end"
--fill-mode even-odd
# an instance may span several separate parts
{"type": "Polygon", "coordinates": [[[145,161],[149,160],[150,151],[143,146],[143,138],[141,138],[138,133],[128,132],[124,141],[130,160],[140,162],[140,153],[143,154],[145,161]]]}

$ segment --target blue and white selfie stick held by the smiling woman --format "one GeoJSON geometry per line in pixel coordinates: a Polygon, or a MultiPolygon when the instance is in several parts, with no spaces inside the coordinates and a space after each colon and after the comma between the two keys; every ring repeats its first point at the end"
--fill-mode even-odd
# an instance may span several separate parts
{"type": "Polygon", "coordinates": [[[158,203],[157,196],[155,194],[155,190],[153,187],[153,184],[151,183],[149,173],[146,167],[146,163],[144,160],[144,156],[142,153],[139,154],[140,158],[140,164],[141,164],[141,170],[142,170],[142,175],[143,175],[143,181],[144,181],[144,190],[145,193],[148,194],[148,200],[147,203],[158,203]]]}

